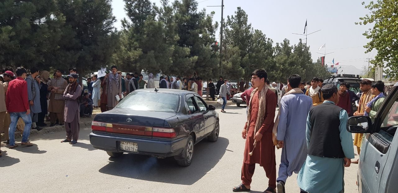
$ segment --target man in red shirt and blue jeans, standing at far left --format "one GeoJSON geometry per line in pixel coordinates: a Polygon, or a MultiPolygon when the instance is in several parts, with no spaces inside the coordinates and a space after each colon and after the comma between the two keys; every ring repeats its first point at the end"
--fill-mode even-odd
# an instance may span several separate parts
{"type": "Polygon", "coordinates": [[[30,109],[27,98],[27,83],[25,81],[26,69],[23,67],[18,67],[16,73],[18,77],[10,81],[8,84],[6,96],[7,111],[10,113],[11,117],[10,128],[8,130],[10,133],[10,146],[8,148],[10,149],[18,147],[18,145],[15,144],[15,129],[17,127],[19,118],[25,122],[21,145],[33,146],[29,141],[27,141],[30,134],[32,120],[30,117],[30,109]]]}

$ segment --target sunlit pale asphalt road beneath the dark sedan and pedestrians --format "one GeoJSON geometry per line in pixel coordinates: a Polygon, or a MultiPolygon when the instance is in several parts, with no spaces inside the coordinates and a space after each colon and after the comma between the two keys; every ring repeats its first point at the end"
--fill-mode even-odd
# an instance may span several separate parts
{"type": "MultiPolygon", "coordinates": [[[[195,145],[193,162],[181,167],[174,159],[123,154],[110,158],[90,145],[91,129],[81,128],[79,143],[60,143],[65,133],[32,136],[33,147],[7,149],[1,144],[2,192],[232,192],[240,184],[244,139],[240,132],[246,107],[230,105],[220,113],[220,137],[195,145]]],[[[20,142],[18,142],[20,143],[20,142]]],[[[277,167],[281,150],[276,150],[277,167]]],[[[356,156],[357,157],[357,156],[356,156]]],[[[358,166],[345,168],[345,192],[357,193],[358,166]]],[[[267,188],[265,172],[257,165],[252,193],[267,188]]],[[[286,192],[299,192],[297,174],[287,180],[286,192]]]]}

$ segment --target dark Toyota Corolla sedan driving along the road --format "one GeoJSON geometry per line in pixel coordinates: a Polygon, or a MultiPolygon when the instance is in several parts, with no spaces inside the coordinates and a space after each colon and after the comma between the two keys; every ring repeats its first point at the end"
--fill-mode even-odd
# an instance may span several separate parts
{"type": "Polygon", "coordinates": [[[127,153],[174,156],[181,166],[192,162],[202,139],[217,141],[220,125],[215,106],[191,91],[139,89],[92,122],[90,143],[111,157],[127,153]]]}

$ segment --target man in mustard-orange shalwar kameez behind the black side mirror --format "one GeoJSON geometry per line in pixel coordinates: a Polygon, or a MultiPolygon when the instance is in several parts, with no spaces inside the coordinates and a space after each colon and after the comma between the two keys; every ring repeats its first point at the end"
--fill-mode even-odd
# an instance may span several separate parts
{"type": "MultiPolygon", "coordinates": [[[[372,81],[368,79],[363,79],[361,82],[359,82],[359,89],[361,89],[363,93],[359,99],[358,110],[354,112],[354,116],[364,116],[366,104],[375,97],[375,95],[372,95],[371,85],[372,81]]],[[[358,155],[361,153],[362,137],[363,133],[355,133],[354,145],[357,146],[358,155]]],[[[352,163],[358,164],[358,162],[359,159],[353,161],[352,163]]]]}

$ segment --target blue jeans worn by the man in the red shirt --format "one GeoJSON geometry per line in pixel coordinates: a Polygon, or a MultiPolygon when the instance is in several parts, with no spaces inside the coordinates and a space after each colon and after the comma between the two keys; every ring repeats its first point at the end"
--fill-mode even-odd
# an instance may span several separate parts
{"type": "Polygon", "coordinates": [[[32,119],[30,118],[30,114],[26,114],[25,112],[10,112],[10,128],[8,129],[8,133],[10,135],[10,146],[15,145],[15,130],[17,129],[18,119],[21,118],[23,122],[25,122],[25,127],[23,129],[22,134],[22,143],[27,142],[27,138],[30,134],[30,127],[32,125],[32,119]]]}

